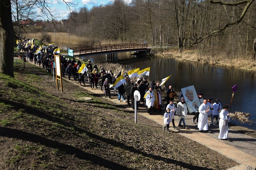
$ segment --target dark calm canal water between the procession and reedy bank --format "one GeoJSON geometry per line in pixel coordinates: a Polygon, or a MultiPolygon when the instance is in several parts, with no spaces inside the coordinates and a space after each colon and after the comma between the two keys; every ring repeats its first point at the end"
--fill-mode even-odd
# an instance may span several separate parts
{"type": "MultiPolygon", "coordinates": [[[[250,113],[250,119],[256,121],[256,73],[235,70],[226,67],[214,67],[208,64],[189,63],[175,61],[163,57],[136,56],[128,53],[118,53],[118,63],[123,64],[125,69],[150,67],[150,80],[158,80],[171,77],[165,83],[168,87],[172,85],[175,89],[194,85],[198,93],[203,93],[203,98],[209,97],[220,99],[222,107],[230,105],[232,99],[232,87],[237,85],[234,93],[231,112],[250,113]]],[[[85,57],[93,63],[104,62],[105,55],[85,57]]],[[[256,124],[241,124],[247,128],[256,130],[256,124]]]]}

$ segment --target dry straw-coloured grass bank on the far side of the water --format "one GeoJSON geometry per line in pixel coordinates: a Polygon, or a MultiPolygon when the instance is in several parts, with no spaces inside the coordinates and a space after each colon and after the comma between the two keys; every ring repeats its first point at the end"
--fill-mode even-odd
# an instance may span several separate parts
{"type": "MultiPolygon", "coordinates": [[[[156,50],[156,49],[154,49],[156,50]]],[[[218,67],[228,67],[245,71],[256,71],[256,61],[252,61],[250,57],[244,58],[228,58],[225,54],[218,54],[215,57],[209,55],[201,55],[196,50],[184,49],[182,53],[176,49],[168,48],[167,51],[160,54],[156,51],[155,55],[161,57],[170,57],[177,61],[194,62],[201,64],[210,64],[218,67]]]]}

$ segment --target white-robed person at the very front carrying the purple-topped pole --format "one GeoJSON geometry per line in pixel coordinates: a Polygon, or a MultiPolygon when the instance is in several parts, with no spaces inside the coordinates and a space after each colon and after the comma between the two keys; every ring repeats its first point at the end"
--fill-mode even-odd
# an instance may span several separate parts
{"type": "Polygon", "coordinates": [[[230,141],[228,138],[228,121],[230,119],[227,111],[228,105],[225,104],[221,113],[219,113],[219,139],[230,141]]]}

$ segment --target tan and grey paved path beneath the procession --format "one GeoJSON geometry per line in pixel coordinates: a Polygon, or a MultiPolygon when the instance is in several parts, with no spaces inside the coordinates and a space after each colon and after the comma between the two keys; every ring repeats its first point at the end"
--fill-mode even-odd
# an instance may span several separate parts
{"type": "MultiPolygon", "coordinates": [[[[30,62],[26,62],[26,63],[30,63],[30,62]]],[[[34,64],[34,63],[31,63],[31,64],[34,64]]],[[[36,66],[39,66],[39,65],[36,64],[36,66]]],[[[101,91],[99,86],[98,86],[98,89],[94,89],[94,90],[90,88],[88,79],[85,79],[85,82],[86,82],[85,86],[83,85],[81,86],[80,83],[78,83],[78,81],[74,81],[72,77],[71,77],[71,80],[68,80],[67,75],[65,76],[65,78],[63,78],[63,80],[72,82],[82,88],[85,88],[89,91],[94,92],[95,94],[105,97],[105,95],[103,94],[103,91],[101,91]]],[[[112,91],[111,91],[111,96],[113,99],[108,98],[108,100],[116,102],[132,110],[132,108],[129,107],[128,104],[123,102],[122,100],[121,102],[118,102],[117,94],[116,94],[116,97],[113,97],[112,91]]],[[[152,115],[148,115],[146,113],[146,107],[144,105],[140,104],[139,108],[140,109],[137,112],[138,114],[143,115],[147,118],[150,118],[158,122],[159,124],[164,125],[163,124],[164,112],[159,113],[159,111],[156,111],[156,112],[153,112],[152,115]]],[[[233,131],[229,129],[228,136],[232,140],[232,142],[223,141],[221,139],[218,139],[218,134],[219,134],[218,124],[209,126],[209,130],[211,131],[211,133],[202,133],[198,130],[197,125],[192,122],[193,117],[194,115],[186,116],[185,122],[188,129],[183,129],[177,126],[180,119],[179,119],[179,116],[175,115],[174,116],[175,125],[178,129],[177,130],[174,130],[172,128],[170,129],[172,131],[179,132],[181,135],[188,137],[194,141],[197,141],[202,145],[207,146],[208,148],[215,150],[223,155],[226,155],[236,160],[238,163],[240,163],[239,166],[232,167],[230,169],[245,170],[247,166],[251,166],[253,170],[255,169],[256,167],[256,139],[255,138],[252,138],[250,136],[247,136],[237,131],[233,131]]]]}

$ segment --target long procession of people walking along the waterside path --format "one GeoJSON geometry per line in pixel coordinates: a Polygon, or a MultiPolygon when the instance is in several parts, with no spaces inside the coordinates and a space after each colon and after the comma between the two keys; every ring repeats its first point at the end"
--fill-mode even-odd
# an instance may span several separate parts
{"type": "MultiPolygon", "coordinates": [[[[53,51],[58,47],[53,46],[41,46],[40,48],[38,45],[34,45],[34,39],[23,39],[22,41],[17,42],[18,51],[20,50],[25,51],[25,56],[27,61],[33,62],[35,64],[39,64],[39,67],[48,68],[52,70],[54,68],[54,55],[53,51]],[[40,52],[38,50],[40,49],[40,52]]],[[[105,98],[107,96],[112,99],[111,97],[111,89],[113,90],[113,96],[118,95],[118,101],[120,102],[121,99],[123,102],[127,102],[129,106],[133,109],[137,106],[137,110],[139,109],[139,104],[143,104],[146,106],[146,112],[151,115],[152,111],[158,110],[160,113],[165,111],[163,114],[164,123],[166,124],[163,127],[163,130],[167,128],[169,132],[170,124],[172,124],[173,129],[177,129],[174,123],[174,115],[178,115],[180,118],[178,126],[184,127],[184,129],[188,129],[185,122],[185,117],[188,112],[187,104],[183,97],[182,92],[179,95],[179,103],[177,106],[173,103],[174,97],[177,96],[174,89],[170,85],[169,88],[166,90],[166,105],[163,107],[163,100],[162,100],[162,88],[159,83],[155,83],[155,81],[148,82],[148,80],[141,76],[137,79],[137,81],[131,80],[128,73],[125,72],[124,74],[120,70],[118,73],[113,73],[112,70],[105,70],[104,67],[100,69],[97,67],[97,64],[94,66],[88,61],[86,65],[86,72],[79,73],[80,67],[82,65],[80,60],[73,58],[66,58],[65,56],[61,56],[61,73],[62,77],[65,77],[65,74],[68,75],[68,79],[71,80],[71,76],[73,77],[74,81],[78,81],[80,85],[85,86],[85,78],[87,78],[90,88],[97,89],[98,86],[100,87],[101,91],[105,94],[105,98]],[[123,75],[126,83],[121,84],[117,88],[112,88],[110,85],[115,84],[117,78],[123,75]],[[134,92],[138,90],[140,93],[140,101],[137,101],[135,104],[134,99],[134,92]],[[170,95],[174,94],[174,95],[170,95]],[[126,100],[127,99],[127,100],[126,100]],[[181,124],[183,123],[183,125],[181,124]]],[[[186,98],[188,98],[187,94],[186,98]]],[[[191,94],[190,94],[191,95],[191,94]]],[[[192,94],[194,95],[194,94],[192,94]]],[[[194,99],[194,96],[192,96],[194,99]]],[[[200,106],[197,106],[198,111],[194,112],[195,116],[192,119],[193,123],[198,124],[198,129],[200,132],[205,131],[205,133],[211,133],[208,130],[208,126],[210,125],[208,122],[208,117],[211,117],[211,125],[219,124],[219,136],[218,138],[222,140],[230,141],[228,138],[228,121],[230,119],[229,113],[227,111],[228,105],[222,105],[219,99],[216,99],[213,103],[213,98],[209,98],[208,100],[203,99],[203,94],[199,93],[198,98],[200,106]],[[219,118],[219,119],[218,119],[219,118]],[[215,119],[215,121],[214,121],[215,119]],[[219,121],[218,121],[219,120],[219,121]]]]}

